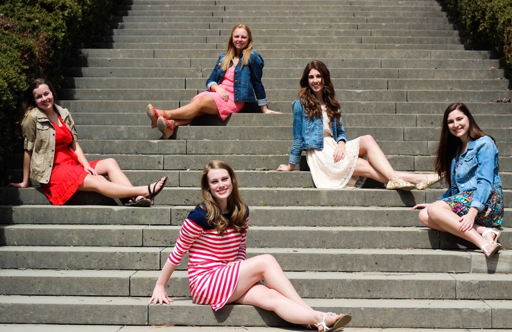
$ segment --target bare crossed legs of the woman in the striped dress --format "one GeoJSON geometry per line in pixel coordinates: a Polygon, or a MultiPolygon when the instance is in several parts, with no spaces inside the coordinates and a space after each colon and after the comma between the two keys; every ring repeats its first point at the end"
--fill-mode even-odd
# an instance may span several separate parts
{"type": "MultiPolygon", "coordinates": [[[[239,282],[228,303],[250,304],[272,310],[294,324],[317,324],[322,321],[325,313],[313,310],[305,303],[271,255],[259,255],[238,264],[241,264],[239,282]],[[259,282],[262,279],[269,287],[259,282]]],[[[327,326],[332,326],[340,317],[342,315],[328,315],[327,326]]]]}

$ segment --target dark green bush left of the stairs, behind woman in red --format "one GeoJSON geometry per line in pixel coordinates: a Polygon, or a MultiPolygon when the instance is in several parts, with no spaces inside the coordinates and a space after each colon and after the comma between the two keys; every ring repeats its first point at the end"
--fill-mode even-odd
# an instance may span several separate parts
{"type": "Polygon", "coordinates": [[[30,81],[55,85],[72,50],[106,26],[115,0],[5,0],[0,4],[0,169],[19,142],[17,120],[30,81]],[[5,143],[7,142],[7,143],[5,143]]]}

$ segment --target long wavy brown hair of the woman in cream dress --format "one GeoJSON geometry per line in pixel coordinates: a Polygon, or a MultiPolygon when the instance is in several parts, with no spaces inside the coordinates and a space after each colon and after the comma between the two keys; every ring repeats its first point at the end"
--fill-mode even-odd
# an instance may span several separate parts
{"type": "Polygon", "coordinates": [[[341,114],[339,113],[339,102],[336,100],[333,81],[330,80],[330,72],[323,62],[314,60],[307,63],[300,81],[301,90],[298,90],[299,100],[301,100],[301,103],[311,120],[322,117],[321,104],[319,100],[317,100],[317,97],[314,96],[308,80],[312,69],[318,70],[322,75],[323,101],[327,106],[326,113],[329,117],[329,122],[332,124],[335,118],[339,122],[339,118],[341,118],[341,114]]]}

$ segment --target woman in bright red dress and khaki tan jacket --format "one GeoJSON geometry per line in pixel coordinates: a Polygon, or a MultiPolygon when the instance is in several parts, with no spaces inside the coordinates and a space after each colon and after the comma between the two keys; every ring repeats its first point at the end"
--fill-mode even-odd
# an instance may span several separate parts
{"type": "Polygon", "coordinates": [[[63,205],[76,191],[97,191],[111,198],[129,197],[129,205],[136,207],[152,205],[167,177],[148,186],[134,187],[114,159],[89,162],[78,143],[70,112],[54,104],[55,96],[46,79],[35,79],[25,91],[21,121],[23,181],[8,187],[29,187],[32,178],[40,182],[53,205],[63,205]]]}

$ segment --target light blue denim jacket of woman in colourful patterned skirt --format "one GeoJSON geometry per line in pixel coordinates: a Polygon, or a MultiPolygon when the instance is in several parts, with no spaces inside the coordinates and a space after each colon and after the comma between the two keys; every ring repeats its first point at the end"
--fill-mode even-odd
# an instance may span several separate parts
{"type": "Polygon", "coordinates": [[[473,201],[470,207],[483,210],[495,187],[502,186],[498,174],[498,149],[489,136],[472,140],[467,150],[459,157],[458,168],[455,171],[456,157],[451,161],[451,188],[439,199],[454,196],[461,191],[472,191],[473,201]]]}

